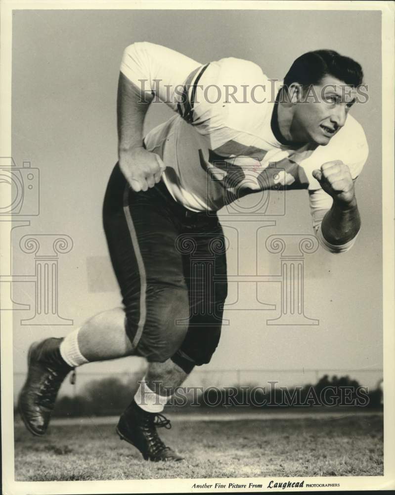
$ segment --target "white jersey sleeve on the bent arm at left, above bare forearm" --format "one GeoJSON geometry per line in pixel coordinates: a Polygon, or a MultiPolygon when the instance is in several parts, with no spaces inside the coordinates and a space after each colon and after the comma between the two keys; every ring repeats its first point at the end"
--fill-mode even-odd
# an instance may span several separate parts
{"type": "Polygon", "coordinates": [[[176,111],[185,81],[199,67],[199,62],[186,55],[148,42],[127,47],[121,62],[121,72],[139,96],[154,94],[176,111]]]}

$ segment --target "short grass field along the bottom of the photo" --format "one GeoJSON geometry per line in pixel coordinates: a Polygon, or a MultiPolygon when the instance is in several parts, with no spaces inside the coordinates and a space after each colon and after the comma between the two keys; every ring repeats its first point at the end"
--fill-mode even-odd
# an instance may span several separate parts
{"type": "MultiPolygon", "coordinates": [[[[170,416],[171,418],[171,416],[170,416]]],[[[185,456],[152,463],[115,425],[15,426],[16,481],[383,475],[383,418],[177,421],[159,432],[185,456]]]]}

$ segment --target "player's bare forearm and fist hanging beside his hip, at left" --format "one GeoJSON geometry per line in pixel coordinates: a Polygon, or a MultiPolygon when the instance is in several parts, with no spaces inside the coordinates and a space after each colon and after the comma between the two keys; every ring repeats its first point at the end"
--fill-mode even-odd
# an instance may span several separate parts
{"type": "Polygon", "coordinates": [[[165,165],[156,153],[143,148],[143,123],[151,93],[141,98],[127,77],[119,75],[117,121],[119,166],[133,191],[147,191],[160,181],[165,165]]]}

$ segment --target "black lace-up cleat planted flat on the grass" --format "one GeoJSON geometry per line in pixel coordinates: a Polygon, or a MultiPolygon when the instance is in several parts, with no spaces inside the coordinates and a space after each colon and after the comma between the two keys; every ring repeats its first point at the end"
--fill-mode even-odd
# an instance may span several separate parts
{"type": "Polygon", "coordinates": [[[165,446],[159,438],[156,428],[162,427],[170,429],[170,420],[163,414],[144,411],[133,400],[122,413],[116,431],[119,438],[135,446],[145,460],[181,461],[183,457],[165,446]]]}

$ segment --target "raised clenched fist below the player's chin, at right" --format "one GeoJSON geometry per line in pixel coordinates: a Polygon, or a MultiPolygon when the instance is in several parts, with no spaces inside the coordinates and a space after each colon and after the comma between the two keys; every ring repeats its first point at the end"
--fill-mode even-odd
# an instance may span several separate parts
{"type": "Polygon", "coordinates": [[[354,183],[350,169],[341,160],[327,161],[321,169],[313,170],[316,179],[325,193],[332,196],[339,204],[348,205],[354,199],[354,183]]]}

